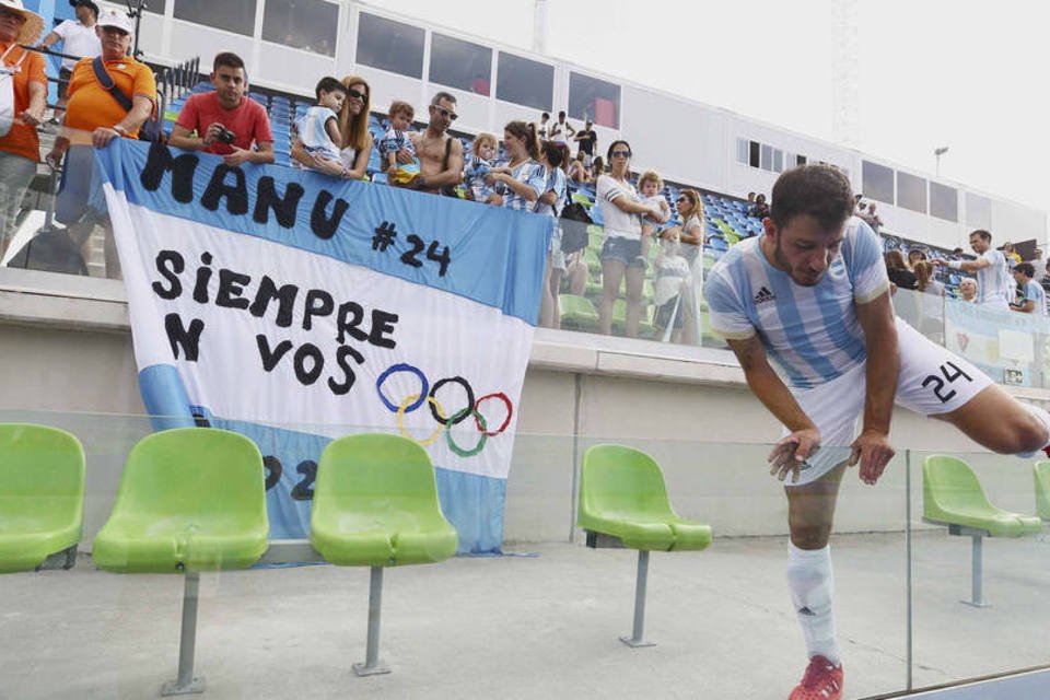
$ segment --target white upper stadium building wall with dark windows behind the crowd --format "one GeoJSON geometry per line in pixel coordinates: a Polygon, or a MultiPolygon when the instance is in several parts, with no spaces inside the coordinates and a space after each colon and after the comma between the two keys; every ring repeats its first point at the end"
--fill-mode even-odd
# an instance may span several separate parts
{"type": "MultiPolygon", "coordinates": [[[[240,1],[240,0],[228,0],[240,1]]],[[[167,2],[163,16],[147,13],[142,25],[142,46],[151,59],[182,61],[195,55],[201,58],[201,69],[207,72],[212,55],[218,50],[233,50],[240,54],[248,65],[252,81],[259,86],[293,92],[304,96],[313,94],[314,85],[324,74],[364,75],[372,85],[372,108],[384,113],[392,100],[407,100],[416,106],[417,119],[425,119],[425,105],[439,90],[446,90],[458,100],[460,119],[456,128],[468,133],[491,131],[501,136],[503,126],[512,119],[538,120],[539,113],[547,109],[557,115],[559,109],[571,104],[570,85],[572,80],[596,80],[619,89],[618,103],[611,109],[618,116],[618,125],[595,126],[598,133],[598,150],[604,155],[611,140],[623,137],[630,140],[637,154],[637,168],[654,167],[665,177],[677,183],[718,191],[734,197],[743,197],[748,191],[769,192],[780,170],[794,165],[794,155],[804,155],[806,161],[832,163],[847,170],[853,182],[854,190],[864,191],[862,168],[865,161],[877,163],[900,173],[898,177],[911,178],[909,182],[925,183],[923,196],[932,203],[934,189],[954,190],[956,206],[947,218],[931,213],[930,206],[915,211],[896,200],[894,196],[879,199],[879,213],[887,233],[922,241],[932,245],[952,248],[966,246],[967,235],[976,228],[988,228],[996,241],[1036,238],[1046,242],[1047,217],[1043,211],[978,194],[956,183],[947,183],[926,174],[899,168],[892,163],[872,158],[858,151],[842,148],[813,137],[794,133],[775,125],[748,119],[742,115],[704,105],[681,96],[661,92],[620,80],[614,75],[603,75],[600,71],[558,60],[551,56],[533,54],[517,47],[494,44],[481,37],[463,34],[454,28],[429,25],[415,19],[400,16],[387,10],[374,9],[357,2],[337,0],[316,0],[338,7],[338,23],[335,32],[334,56],[291,48],[261,37],[264,18],[268,2],[279,0],[255,0],[256,21],[253,36],[202,26],[192,22],[176,20],[173,16],[173,2],[167,2]],[[378,19],[386,23],[397,23],[406,32],[419,37],[422,31],[420,54],[421,71],[413,68],[412,75],[399,74],[359,62],[358,31],[362,16],[378,19]],[[488,75],[479,75],[489,81],[489,95],[476,94],[470,90],[451,88],[431,78],[432,47],[434,37],[451,39],[486,54],[489,58],[488,75]],[[536,104],[516,104],[500,98],[501,56],[541,63],[552,69],[549,85],[539,89],[536,104]],[[415,73],[419,73],[418,75],[415,73]],[[667,115],[675,115],[675,121],[685,125],[681,129],[665,128],[667,115]],[[685,135],[685,136],[682,136],[685,135]],[[772,163],[760,167],[739,162],[737,139],[746,139],[768,148],[769,153],[778,153],[779,167],[772,163]],[[968,211],[975,205],[973,213],[968,211]],[[954,219],[954,221],[953,221],[954,219]],[[975,221],[977,223],[975,223],[975,221]]],[[[371,21],[371,20],[370,20],[371,21]]],[[[271,37],[272,38],[272,37],[271,37]]],[[[394,43],[396,45],[396,43],[394,43]]],[[[396,60],[396,59],[395,59],[396,60]]],[[[418,67],[420,63],[416,63],[418,67]]],[[[597,103],[594,103],[597,110],[597,103]]],[[[580,124],[578,115],[570,110],[570,120],[580,124]]],[[[943,211],[941,213],[944,213],[943,211]]]]}

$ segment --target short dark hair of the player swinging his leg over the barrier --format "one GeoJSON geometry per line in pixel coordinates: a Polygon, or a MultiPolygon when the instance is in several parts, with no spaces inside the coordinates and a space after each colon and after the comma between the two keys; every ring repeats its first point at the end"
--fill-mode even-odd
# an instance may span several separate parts
{"type": "Polygon", "coordinates": [[[835,229],[853,213],[853,188],[831,165],[800,165],[785,171],[773,185],[770,219],[786,226],[792,219],[809,214],[825,229],[835,229]]]}

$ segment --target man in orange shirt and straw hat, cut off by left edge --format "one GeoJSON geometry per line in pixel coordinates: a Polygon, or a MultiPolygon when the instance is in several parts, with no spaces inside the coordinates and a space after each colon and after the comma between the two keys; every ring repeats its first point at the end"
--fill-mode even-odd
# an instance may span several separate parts
{"type": "Polygon", "coordinates": [[[0,0],[0,90],[11,91],[13,106],[10,119],[0,118],[0,258],[14,235],[22,196],[40,160],[36,126],[44,118],[47,97],[44,57],[19,44],[35,44],[43,31],[44,20],[24,9],[22,0],[0,0]]]}

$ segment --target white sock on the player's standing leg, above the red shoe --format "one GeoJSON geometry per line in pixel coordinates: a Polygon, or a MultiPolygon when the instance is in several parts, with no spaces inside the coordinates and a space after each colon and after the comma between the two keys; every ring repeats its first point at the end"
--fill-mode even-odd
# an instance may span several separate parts
{"type": "Polygon", "coordinates": [[[835,573],[831,570],[831,546],[822,549],[800,549],[788,540],[788,587],[791,602],[802,626],[809,658],[824,656],[839,663],[839,644],[835,635],[831,595],[835,573]]]}

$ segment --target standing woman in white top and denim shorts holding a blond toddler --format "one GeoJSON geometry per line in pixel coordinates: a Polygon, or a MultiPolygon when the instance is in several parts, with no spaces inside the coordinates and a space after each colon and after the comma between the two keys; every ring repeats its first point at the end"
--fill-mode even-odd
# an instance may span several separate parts
{"type": "Polygon", "coordinates": [[[631,172],[631,144],[619,140],[609,144],[609,173],[598,177],[597,203],[605,220],[605,243],[602,246],[602,302],[598,317],[602,332],[612,331],[612,302],[627,278],[627,318],[625,335],[638,337],[642,315],[642,281],[645,258],[642,257],[642,222],[639,214],[660,218],[656,205],[644,205],[628,180],[631,172]]]}

